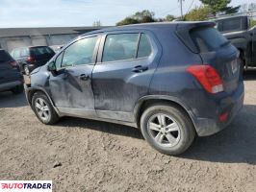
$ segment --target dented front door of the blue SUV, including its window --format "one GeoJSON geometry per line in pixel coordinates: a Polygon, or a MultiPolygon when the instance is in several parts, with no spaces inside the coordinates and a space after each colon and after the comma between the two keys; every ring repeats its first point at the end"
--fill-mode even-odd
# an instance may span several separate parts
{"type": "Polygon", "coordinates": [[[94,67],[99,36],[71,43],[55,60],[57,71],[49,79],[56,108],[76,116],[94,116],[91,72],[94,67]]]}

